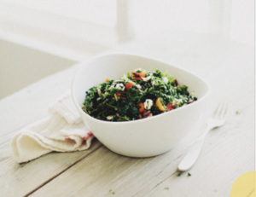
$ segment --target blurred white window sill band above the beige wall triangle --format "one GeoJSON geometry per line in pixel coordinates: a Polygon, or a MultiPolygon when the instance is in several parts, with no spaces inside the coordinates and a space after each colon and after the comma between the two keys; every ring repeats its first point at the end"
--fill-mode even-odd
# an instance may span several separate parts
{"type": "Polygon", "coordinates": [[[3,1],[0,1],[0,26],[0,38],[4,40],[72,61],[84,61],[118,43],[113,26],[3,1]]]}

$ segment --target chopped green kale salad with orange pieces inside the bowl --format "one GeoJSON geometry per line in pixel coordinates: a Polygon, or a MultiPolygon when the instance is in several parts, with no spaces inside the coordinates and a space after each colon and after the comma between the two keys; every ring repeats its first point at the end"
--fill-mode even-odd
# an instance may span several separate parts
{"type": "Polygon", "coordinates": [[[168,72],[141,68],[117,80],[106,79],[85,94],[84,112],[107,121],[145,119],[197,100],[187,86],[180,86],[168,72]]]}

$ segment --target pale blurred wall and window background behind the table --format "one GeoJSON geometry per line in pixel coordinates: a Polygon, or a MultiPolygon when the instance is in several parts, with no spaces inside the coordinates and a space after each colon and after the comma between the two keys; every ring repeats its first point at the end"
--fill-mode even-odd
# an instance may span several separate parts
{"type": "Polygon", "coordinates": [[[0,99],[169,28],[254,45],[254,8],[253,0],[0,0],[0,99]]]}

